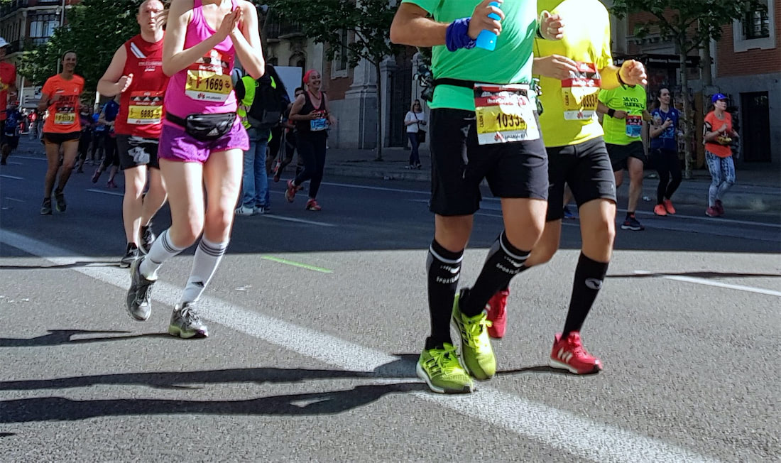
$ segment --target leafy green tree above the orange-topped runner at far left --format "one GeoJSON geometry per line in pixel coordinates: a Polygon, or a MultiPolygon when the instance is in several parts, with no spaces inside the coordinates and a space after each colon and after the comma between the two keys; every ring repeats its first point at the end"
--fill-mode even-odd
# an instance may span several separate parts
{"type": "Polygon", "coordinates": [[[65,27],[23,54],[19,73],[41,85],[58,72],[62,54],[73,51],[78,56],[76,73],[84,77],[84,93],[93,93],[116,49],[138,34],[138,5],[141,0],[84,0],[73,5],[65,27]]]}

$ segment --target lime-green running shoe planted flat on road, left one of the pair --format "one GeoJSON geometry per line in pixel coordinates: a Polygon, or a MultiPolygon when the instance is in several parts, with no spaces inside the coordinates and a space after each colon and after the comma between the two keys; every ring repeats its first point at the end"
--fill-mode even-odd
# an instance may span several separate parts
{"type": "Polygon", "coordinates": [[[426,381],[430,390],[439,394],[467,394],[474,390],[474,383],[466,372],[452,344],[442,349],[429,349],[420,354],[415,367],[418,377],[426,381]]]}

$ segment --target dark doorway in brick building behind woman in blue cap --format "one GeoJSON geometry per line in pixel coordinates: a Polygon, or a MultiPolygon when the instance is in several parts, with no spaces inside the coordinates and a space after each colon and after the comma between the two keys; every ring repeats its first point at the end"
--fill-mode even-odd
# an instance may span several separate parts
{"type": "Polygon", "coordinates": [[[768,92],[740,94],[745,162],[770,162],[770,102],[768,92]]]}

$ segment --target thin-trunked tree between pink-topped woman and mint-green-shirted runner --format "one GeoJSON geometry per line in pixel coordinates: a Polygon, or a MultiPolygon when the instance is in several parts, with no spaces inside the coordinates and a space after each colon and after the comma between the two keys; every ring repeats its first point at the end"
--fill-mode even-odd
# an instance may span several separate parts
{"type": "Polygon", "coordinates": [[[390,0],[272,0],[271,14],[282,20],[301,25],[301,32],[312,40],[326,44],[326,58],[346,54],[349,66],[358,66],[361,59],[373,64],[377,75],[377,138],[376,160],[382,161],[382,83],[380,63],[395,55],[401,47],[388,40],[388,31],[396,8],[390,0]],[[341,41],[341,30],[355,37],[346,47],[341,41]]]}

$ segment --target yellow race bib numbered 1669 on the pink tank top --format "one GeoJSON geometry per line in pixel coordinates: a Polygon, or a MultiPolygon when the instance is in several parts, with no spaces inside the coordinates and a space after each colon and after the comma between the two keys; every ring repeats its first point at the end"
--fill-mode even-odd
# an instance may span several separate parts
{"type": "Polygon", "coordinates": [[[187,67],[184,94],[199,102],[225,102],[234,89],[230,81],[230,61],[216,50],[187,67]]]}

